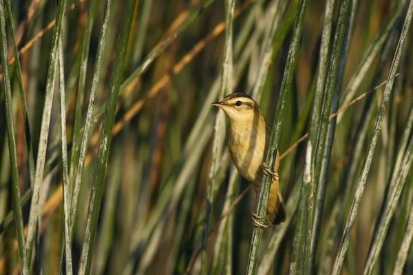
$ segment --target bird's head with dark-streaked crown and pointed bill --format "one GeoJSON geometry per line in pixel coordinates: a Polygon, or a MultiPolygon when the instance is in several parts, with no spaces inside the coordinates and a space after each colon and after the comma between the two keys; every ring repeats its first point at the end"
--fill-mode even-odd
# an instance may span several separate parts
{"type": "Polygon", "coordinates": [[[222,101],[211,105],[220,107],[230,121],[253,120],[256,115],[260,115],[257,102],[247,94],[229,94],[222,101]]]}

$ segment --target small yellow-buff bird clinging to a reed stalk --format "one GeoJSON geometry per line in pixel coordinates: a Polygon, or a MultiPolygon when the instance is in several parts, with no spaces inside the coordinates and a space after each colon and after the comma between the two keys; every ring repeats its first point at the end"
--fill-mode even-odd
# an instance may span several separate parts
{"type": "MultiPolygon", "coordinates": [[[[286,208],[278,186],[279,152],[277,151],[272,172],[265,164],[271,127],[262,117],[257,102],[251,96],[235,93],[229,94],[221,102],[211,104],[220,107],[228,118],[226,143],[231,159],[242,177],[251,181],[255,192],[259,192],[264,173],[272,176],[266,217],[275,225],[284,222],[286,208]]],[[[260,217],[253,213],[253,223],[266,228],[267,226],[257,221],[257,218],[260,217]]]]}

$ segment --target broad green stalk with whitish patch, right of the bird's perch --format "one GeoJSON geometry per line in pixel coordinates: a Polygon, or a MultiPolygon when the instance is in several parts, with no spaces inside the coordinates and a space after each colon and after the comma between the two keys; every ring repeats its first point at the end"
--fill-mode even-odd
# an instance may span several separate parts
{"type": "MultiPolygon", "coordinates": [[[[348,20],[348,10],[350,9],[350,0],[341,1],[339,15],[337,19],[337,28],[332,43],[330,63],[324,87],[324,96],[321,103],[321,113],[319,115],[319,124],[316,122],[317,117],[312,118],[310,137],[306,148],[306,163],[304,165],[303,184],[301,186],[301,199],[297,213],[297,227],[293,240],[293,254],[290,262],[290,273],[311,273],[311,239],[313,230],[313,217],[315,212],[315,195],[318,190],[319,175],[321,170],[321,159],[324,154],[326,133],[328,129],[328,117],[330,115],[332,95],[335,91],[338,65],[341,56],[344,33],[348,20]],[[313,135],[312,135],[313,134],[313,135]]],[[[321,85],[321,83],[320,83],[321,85]]],[[[317,89],[317,86],[316,86],[317,89]]],[[[315,95],[316,100],[313,109],[313,115],[319,113],[320,106],[319,94],[315,95]]],[[[317,116],[317,115],[316,115],[317,116]]],[[[315,252],[315,251],[313,251],[315,252]]]]}

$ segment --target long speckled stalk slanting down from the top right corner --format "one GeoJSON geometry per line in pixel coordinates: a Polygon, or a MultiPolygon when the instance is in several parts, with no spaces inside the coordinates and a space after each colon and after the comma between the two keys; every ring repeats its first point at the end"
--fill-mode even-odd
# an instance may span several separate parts
{"type": "Polygon", "coordinates": [[[357,182],[357,187],[354,193],[352,206],[350,208],[350,214],[346,222],[346,228],[344,229],[343,237],[341,239],[339,253],[337,254],[335,265],[333,268],[333,274],[339,274],[339,272],[341,271],[341,267],[343,265],[344,256],[346,254],[346,250],[348,248],[348,242],[350,240],[350,234],[352,232],[352,228],[354,227],[354,222],[356,219],[357,211],[359,210],[359,203],[361,200],[361,196],[363,195],[364,187],[366,186],[368,173],[370,171],[370,166],[372,164],[372,157],[374,155],[374,150],[376,148],[377,140],[379,138],[379,133],[381,131],[381,124],[383,122],[383,118],[385,116],[385,110],[389,102],[390,93],[392,91],[392,87],[394,83],[394,78],[396,77],[396,71],[399,68],[401,52],[405,44],[405,38],[407,36],[407,32],[410,28],[410,21],[412,19],[412,13],[413,13],[413,1],[410,1],[409,9],[407,10],[407,15],[405,18],[405,23],[403,25],[403,30],[401,32],[399,44],[397,45],[396,54],[394,55],[394,58],[392,61],[392,67],[390,69],[388,80],[385,85],[383,97],[381,98],[377,119],[374,124],[372,137],[370,138],[370,142],[368,144],[368,153],[366,155],[366,159],[363,162],[363,167],[361,169],[359,181],[357,182]]]}

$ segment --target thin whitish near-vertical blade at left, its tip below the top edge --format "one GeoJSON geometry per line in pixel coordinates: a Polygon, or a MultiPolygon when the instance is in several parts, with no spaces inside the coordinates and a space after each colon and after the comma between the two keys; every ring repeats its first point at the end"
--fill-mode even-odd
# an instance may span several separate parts
{"type": "MultiPolygon", "coordinates": [[[[62,36],[62,35],[61,35],[62,36]]],[[[59,41],[59,90],[60,90],[60,115],[61,115],[61,145],[62,145],[62,169],[63,169],[63,223],[64,243],[66,255],[66,274],[71,275],[72,270],[72,245],[70,243],[70,201],[69,186],[67,184],[67,142],[66,142],[66,103],[65,103],[65,71],[63,65],[62,39],[59,41]]]]}

